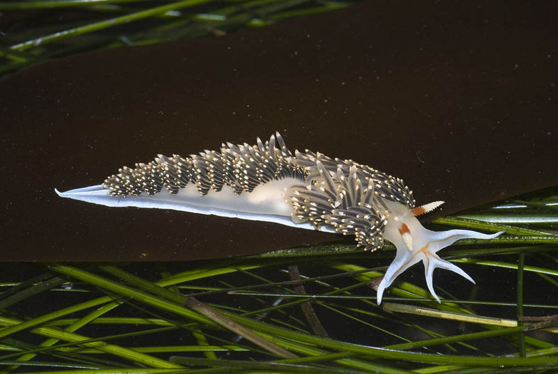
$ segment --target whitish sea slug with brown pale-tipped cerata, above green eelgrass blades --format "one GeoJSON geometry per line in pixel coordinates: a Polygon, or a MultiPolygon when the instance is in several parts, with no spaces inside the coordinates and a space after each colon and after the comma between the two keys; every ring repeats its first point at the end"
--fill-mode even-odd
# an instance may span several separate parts
{"type": "Polygon", "coordinates": [[[366,251],[389,240],[397,255],[379,283],[378,304],[393,280],[420,260],[438,302],[432,287],[435,268],[474,283],[437,251],[460,239],[492,239],[503,232],[430,231],[416,216],[443,201],[415,208],[411,190],[399,178],[309,150],[293,155],[278,133],[265,143],[257,139],[255,146],[226,143],[218,152],[204,150],[190,157],[158,155],[148,164],[135,164],[135,169],[119,169],[103,185],[56,193],[107,206],[182,210],[354,235],[366,251]]]}

